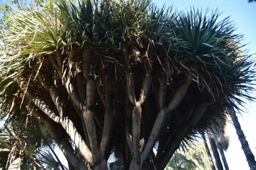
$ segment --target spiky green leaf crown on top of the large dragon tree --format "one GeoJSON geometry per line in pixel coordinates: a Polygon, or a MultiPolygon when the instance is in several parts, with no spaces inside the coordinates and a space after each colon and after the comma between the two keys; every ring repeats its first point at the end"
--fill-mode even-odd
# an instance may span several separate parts
{"type": "MultiPolygon", "coordinates": [[[[242,104],[236,96],[251,99],[243,90],[251,89],[246,84],[252,81],[252,61],[240,52],[242,36],[233,34],[229,18],[217,22],[217,11],[173,13],[171,8],[158,9],[150,1],[57,1],[57,7],[49,4],[52,1],[46,2],[43,11],[32,8],[5,17],[1,25],[2,92],[26,72],[31,60],[55,50],[73,55],[70,50],[93,49],[94,58],[100,59],[104,67],[121,62],[118,53],[126,44],[146,49],[149,42],[154,42],[157,52],[168,56],[166,64],[162,64],[166,73],[170,65],[192,73],[199,89],[226,104],[226,100],[242,104]],[[197,63],[200,74],[191,72],[191,63],[197,63]]],[[[76,73],[75,66],[71,67],[76,73]]]]}

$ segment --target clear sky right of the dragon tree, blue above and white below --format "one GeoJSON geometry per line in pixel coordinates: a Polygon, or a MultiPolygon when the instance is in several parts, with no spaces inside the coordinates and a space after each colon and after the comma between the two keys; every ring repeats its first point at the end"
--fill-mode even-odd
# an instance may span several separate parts
{"type": "MultiPolygon", "coordinates": [[[[156,1],[156,4],[162,6],[173,5],[177,10],[187,10],[190,7],[199,9],[219,9],[222,12],[220,19],[224,19],[230,16],[230,20],[236,25],[237,30],[235,33],[244,34],[243,44],[248,44],[246,49],[250,49],[250,54],[256,53],[256,2],[248,3],[247,0],[215,0],[215,1],[200,1],[200,0],[182,0],[182,1],[156,1]]],[[[256,86],[254,86],[256,87],[256,86]]],[[[256,94],[251,94],[256,97],[256,94]]],[[[241,128],[246,135],[246,139],[254,155],[256,155],[256,103],[247,102],[247,112],[238,116],[241,124],[241,128]]],[[[249,170],[249,166],[244,156],[243,150],[241,149],[240,141],[236,135],[233,124],[229,124],[227,128],[227,134],[230,135],[230,146],[228,151],[225,153],[229,169],[243,169],[249,170]]]]}

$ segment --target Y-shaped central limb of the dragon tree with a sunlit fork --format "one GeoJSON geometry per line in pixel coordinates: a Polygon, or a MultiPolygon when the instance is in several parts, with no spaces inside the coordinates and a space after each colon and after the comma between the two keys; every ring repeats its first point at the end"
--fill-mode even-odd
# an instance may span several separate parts
{"type": "MultiPolygon", "coordinates": [[[[133,50],[133,49],[132,49],[133,50]]],[[[143,151],[144,144],[140,145],[140,132],[141,132],[141,105],[145,102],[146,98],[149,95],[149,89],[151,87],[151,78],[152,78],[152,66],[151,62],[154,59],[154,47],[149,46],[148,52],[148,63],[146,64],[146,75],[142,84],[140,99],[136,101],[135,99],[135,82],[134,82],[134,72],[132,67],[129,64],[130,60],[130,47],[126,46],[124,51],[124,63],[126,67],[126,83],[127,83],[127,98],[133,106],[132,109],[132,146],[130,149],[133,149],[133,160],[130,164],[130,169],[141,169],[143,158],[140,154],[140,151],[143,151]]],[[[135,58],[137,56],[134,56],[135,58]]],[[[129,139],[129,137],[128,137],[129,139]]],[[[144,140],[144,139],[143,139],[144,140]]],[[[128,141],[129,142],[129,141],[128,141]]],[[[129,144],[131,145],[131,144],[129,144]]]]}

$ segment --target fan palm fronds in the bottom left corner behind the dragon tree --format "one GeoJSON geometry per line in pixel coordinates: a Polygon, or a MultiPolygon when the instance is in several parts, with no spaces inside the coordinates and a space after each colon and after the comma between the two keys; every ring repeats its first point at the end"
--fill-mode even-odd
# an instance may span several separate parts
{"type": "Polygon", "coordinates": [[[54,152],[49,134],[43,125],[23,123],[1,127],[0,168],[2,169],[62,169],[65,166],[54,152]]]}

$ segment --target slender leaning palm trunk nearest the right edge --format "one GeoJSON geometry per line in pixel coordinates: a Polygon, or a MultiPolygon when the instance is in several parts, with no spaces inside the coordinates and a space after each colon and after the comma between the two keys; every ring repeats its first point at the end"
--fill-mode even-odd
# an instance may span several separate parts
{"type": "Polygon", "coordinates": [[[252,151],[251,151],[251,149],[249,147],[249,144],[246,140],[244,132],[241,129],[238,118],[236,117],[235,110],[232,110],[231,118],[232,118],[232,121],[233,121],[233,125],[235,126],[236,134],[238,135],[238,139],[240,140],[240,143],[242,145],[244,155],[246,156],[246,160],[248,162],[248,165],[249,165],[251,170],[255,170],[256,169],[255,157],[254,157],[254,154],[252,154],[252,151]]]}

